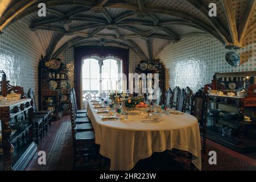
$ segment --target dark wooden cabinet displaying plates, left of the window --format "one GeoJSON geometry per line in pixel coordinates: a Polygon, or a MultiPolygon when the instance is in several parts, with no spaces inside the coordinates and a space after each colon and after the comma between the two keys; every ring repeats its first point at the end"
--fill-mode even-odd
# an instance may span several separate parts
{"type": "Polygon", "coordinates": [[[67,103],[68,69],[60,59],[39,62],[39,102],[40,110],[52,110],[53,120],[58,120],[63,114],[69,114],[67,103]]]}

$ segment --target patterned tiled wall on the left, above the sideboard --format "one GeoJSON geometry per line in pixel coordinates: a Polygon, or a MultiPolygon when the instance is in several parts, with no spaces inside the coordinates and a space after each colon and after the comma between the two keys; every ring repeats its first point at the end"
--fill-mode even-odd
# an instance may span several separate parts
{"type": "MultiPolygon", "coordinates": [[[[5,71],[11,85],[27,92],[35,90],[38,98],[38,63],[44,51],[38,37],[23,23],[16,22],[0,35],[0,69],[5,71]]],[[[37,102],[38,103],[38,102],[37,102]]]]}

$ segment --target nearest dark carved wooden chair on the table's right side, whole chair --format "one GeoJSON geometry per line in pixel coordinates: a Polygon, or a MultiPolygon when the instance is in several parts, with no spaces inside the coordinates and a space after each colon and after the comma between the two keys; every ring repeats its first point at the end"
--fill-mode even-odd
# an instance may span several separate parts
{"type": "Polygon", "coordinates": [[[191,115],[195,116],[199,122],[200,133],[203,133],[202,151],[206,154],[206,133],[207,133],[207,95],[202,89],[198,90],[192,97],[191,115]]]}

